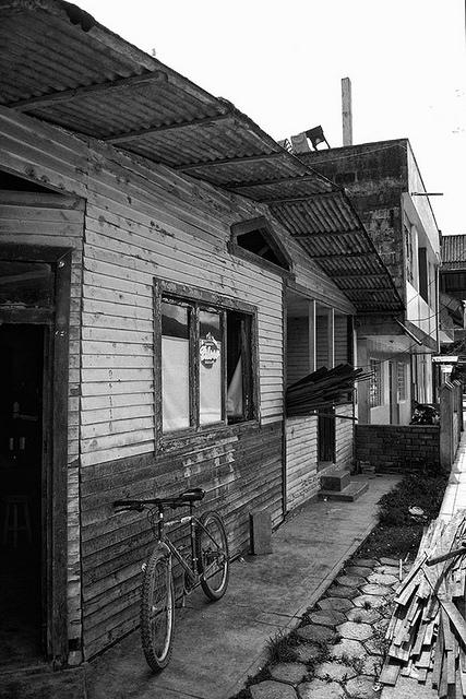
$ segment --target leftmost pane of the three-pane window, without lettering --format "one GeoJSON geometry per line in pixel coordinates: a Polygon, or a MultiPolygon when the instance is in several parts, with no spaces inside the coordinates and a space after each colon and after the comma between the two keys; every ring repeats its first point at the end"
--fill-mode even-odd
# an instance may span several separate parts
{"type": "Polygon", "coordinates": [[[190,426],[189,308],[162,303],[162,412],[164,433],[190,426]]]}

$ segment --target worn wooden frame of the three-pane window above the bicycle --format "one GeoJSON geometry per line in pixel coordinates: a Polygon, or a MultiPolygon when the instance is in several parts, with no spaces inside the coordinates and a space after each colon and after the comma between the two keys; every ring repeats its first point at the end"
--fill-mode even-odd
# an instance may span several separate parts
{"type": "MultiPolygon", "coordinates": [[[[199,327],[199,325],[198,325],[199,327]]],[[[192,330],[190,331],[192,333],[192,330]]],[[[259,343],[258,343],[258,308],[246,301],[223,296],[215,292],[207,292],[194,286],[169,282],[154,277],[154,404],[155,404],[155,434],[156,450],[167,448],[170,443],[179,443],[180,440],[192,440],[218,430],[238,429],[259,422],[259,343]],[[227,405],[227,353],[222,353],[222,419],[208,425],[200,423],[200,386],[199,372],[192,366],[192,357],[195,352],[192,346],[199,340],[199,332],[190,334],[190,425],[189,427],[164,433],[163,430],[163,394],[162,394],[162,303],[169,297],[175,303],[194,308],[195,323],[199,323],[200,310],[219,312],[223,328],[224,342],[227,340],[227,312],[236,311],[250,317],[250,366],[251,366],[251,417],[241,422],[228,423],[227,405]],[[191,344],[192,343],[192,344],[191,344]]]]}

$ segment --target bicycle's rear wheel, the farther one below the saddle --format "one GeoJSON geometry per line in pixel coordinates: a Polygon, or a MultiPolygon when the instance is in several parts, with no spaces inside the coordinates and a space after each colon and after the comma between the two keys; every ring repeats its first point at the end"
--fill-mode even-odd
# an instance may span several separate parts
{"type": "Polygon", "coordinates": [[[205,512],[195,530],[198,566],[201,587],[211,600],[219,600],[228,587],[230,562],[228,538],[223,519],[217,512],[205,512]]]}

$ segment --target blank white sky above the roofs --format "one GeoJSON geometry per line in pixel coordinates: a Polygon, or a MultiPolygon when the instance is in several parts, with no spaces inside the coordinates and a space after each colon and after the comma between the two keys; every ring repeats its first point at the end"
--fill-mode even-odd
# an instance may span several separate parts
{"type": "MultiPolygon", "coordinates": [[[[74,0],[275,140],[409,139],[444,235],[466,234],[465,0],[74,0]]],[[[320,149],[324,147],[323,145],[320,149]]]]}

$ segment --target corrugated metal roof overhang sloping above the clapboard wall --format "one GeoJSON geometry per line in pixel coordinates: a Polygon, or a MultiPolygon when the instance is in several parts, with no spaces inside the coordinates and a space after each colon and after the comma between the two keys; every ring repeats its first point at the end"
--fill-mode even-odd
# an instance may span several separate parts
{"type": "Polygon", "coordinates": [[[266,204],[359,311],[403,309],[340,188],[89,14],[0,0],[0,104],[266,204]]]}

